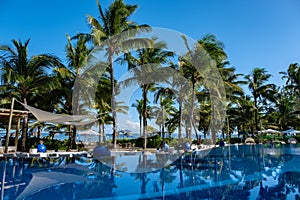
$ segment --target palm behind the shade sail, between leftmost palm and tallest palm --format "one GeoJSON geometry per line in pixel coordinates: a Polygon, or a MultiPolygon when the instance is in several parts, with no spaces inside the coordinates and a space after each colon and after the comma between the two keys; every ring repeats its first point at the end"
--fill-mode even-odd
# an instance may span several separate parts
{"type": "MultiPolygon", "coordinates": [[[[80,77],[83,71],[87,67],[88,56],[91,52],[91,48],[88,47],[87,42],[89,40],[85,35],[80,35],[79,37],[74,38],[76,42],[73,43],[72,39],[69,35],[67,35],[67,45],[66,45],[66,57],[67,57],[67,66],[59,66],[54,69],[56,76],[60,80],[60,84],[62,87],[57,93],[60,93],[61,99],[59,106],[57,107],[57,112],[65,113],[65,114],[80,114],[82,110],[82,105],[79,104],[79,90],[74,89],[74,87],[79,87],[76,84],[80,84],[80,82],[76,82],[76,79],[80,77]]],[[[91,81],[90,79],[86,81],[91,81]]],[[[95,85],[95,83],[94,83],[95,85]]],[[[81,95],[84,97],[89,97],[88,89],[82,91],[85,92],[85,95],[81,95]]],[[[71,127],[70,127],[71,129],[71,127]]],[[[72,132],[69,135],[69,147],[76,148],[76,134],[77,128],[74,125],[72,128],[72,132]]]]}

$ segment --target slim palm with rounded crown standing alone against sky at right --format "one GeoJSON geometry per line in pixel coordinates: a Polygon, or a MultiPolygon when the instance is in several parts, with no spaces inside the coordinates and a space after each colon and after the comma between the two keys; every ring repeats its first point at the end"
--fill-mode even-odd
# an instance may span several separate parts
{"type": "Polygon", "coordinates": [[[269,100],[273,100],[272,98],[276,93],[274,84],[266,84],[270,77],[271,74],[267,74],[264,68],[254,68],[251,74],[245,76],[245,79],[249,82],[248,88],[254,100],[256,131],[258,131],[258,110],[263,108],[261,106],[266,105],[269,100]]]}

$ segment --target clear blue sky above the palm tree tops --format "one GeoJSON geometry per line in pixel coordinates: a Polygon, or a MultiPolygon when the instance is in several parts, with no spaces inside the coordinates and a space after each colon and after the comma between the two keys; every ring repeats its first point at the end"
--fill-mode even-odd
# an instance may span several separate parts
{"type": "MultiPolygon", "coordinates": [[[[107,7],[112,0],[102,0],[107,7]]],[[[198,40],[207,33],[225,44],[231,66],[248,74],[266,68],[271,81],[300,58],[298,0],[125,0],[138,4],[132,20],[168,28],[198,40]]],[[[31,54],[52,53],[63,61],[66,34],[89,32],[86,16],[98,16],[95,0],[1,0],[0,44],[31,38],[31,54]]]]}

